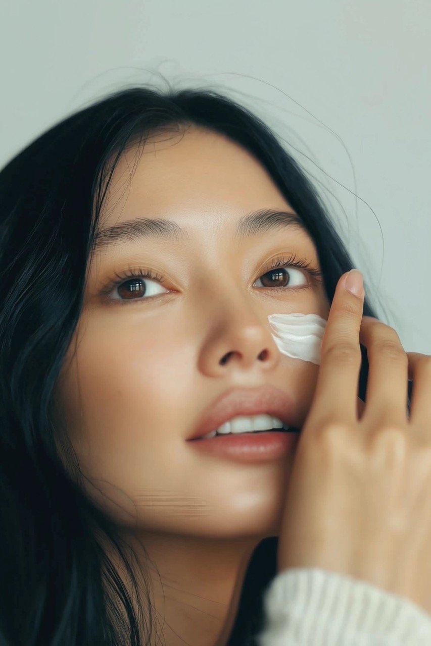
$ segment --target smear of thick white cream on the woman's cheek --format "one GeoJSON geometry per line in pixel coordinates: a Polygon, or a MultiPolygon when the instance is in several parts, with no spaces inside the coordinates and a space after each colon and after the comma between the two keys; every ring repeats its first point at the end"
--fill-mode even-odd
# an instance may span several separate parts
{"type": "Polygon", "coordinates": [[[317,314],[270,314],[272,338],[286,357],[320,365],[320,348],[327,321],[317,314]]]}

